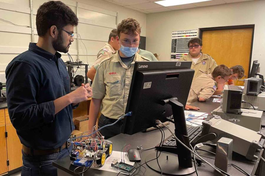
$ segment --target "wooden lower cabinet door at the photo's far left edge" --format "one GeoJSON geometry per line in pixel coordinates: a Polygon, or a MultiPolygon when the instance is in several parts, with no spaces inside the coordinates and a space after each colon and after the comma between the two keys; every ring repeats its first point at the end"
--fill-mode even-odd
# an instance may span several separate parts
{"type": "MultiPolygon", "coordinates": [[[[0,112],[0,114],[1,114],[1,112],[0,112]]],[[[5,125],[0,126],[0,148],[1,148],[1,152],[0,152],[0,175],[8,172],[5,131],[6,131],[5,125]]]]}

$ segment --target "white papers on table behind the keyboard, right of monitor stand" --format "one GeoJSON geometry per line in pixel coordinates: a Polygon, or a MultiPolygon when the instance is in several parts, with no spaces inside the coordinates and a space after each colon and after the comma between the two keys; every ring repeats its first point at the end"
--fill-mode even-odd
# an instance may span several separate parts
{"type": "Polygon", "coordinates": [[[202,125],[202,122],[204,120],[203,118],[207,118],[207,116],[208,116],[207,113],[185,110],[185,118],[187,119],[186,124],[194,126],[194,127],[202,125]],[[201,116],[201,117],[198,117],[198,116],[201,116]],[[198,117],[198,118],[192,119],[193,117],[198,117]]]}

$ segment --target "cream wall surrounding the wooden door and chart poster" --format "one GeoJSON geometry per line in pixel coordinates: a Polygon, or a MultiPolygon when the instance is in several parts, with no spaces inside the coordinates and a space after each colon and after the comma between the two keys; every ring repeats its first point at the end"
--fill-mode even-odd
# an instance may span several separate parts
{"type": "Polygon", "coordinates": [[[259,60],[265,75],[264,0],[147,14],[146,50],[170,61],[172,31],[245,24],[255,24],[252,60],[259,60]]]}

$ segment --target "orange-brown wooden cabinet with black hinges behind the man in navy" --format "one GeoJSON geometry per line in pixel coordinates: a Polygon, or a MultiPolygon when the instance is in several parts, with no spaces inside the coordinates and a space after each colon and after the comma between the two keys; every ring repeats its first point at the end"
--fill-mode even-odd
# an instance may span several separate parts
{"type": "Polygon", "coordinates": [[[0,148],[0,175],[22,166],[22,144],[7,109],[0,110],[0,148]]]}

